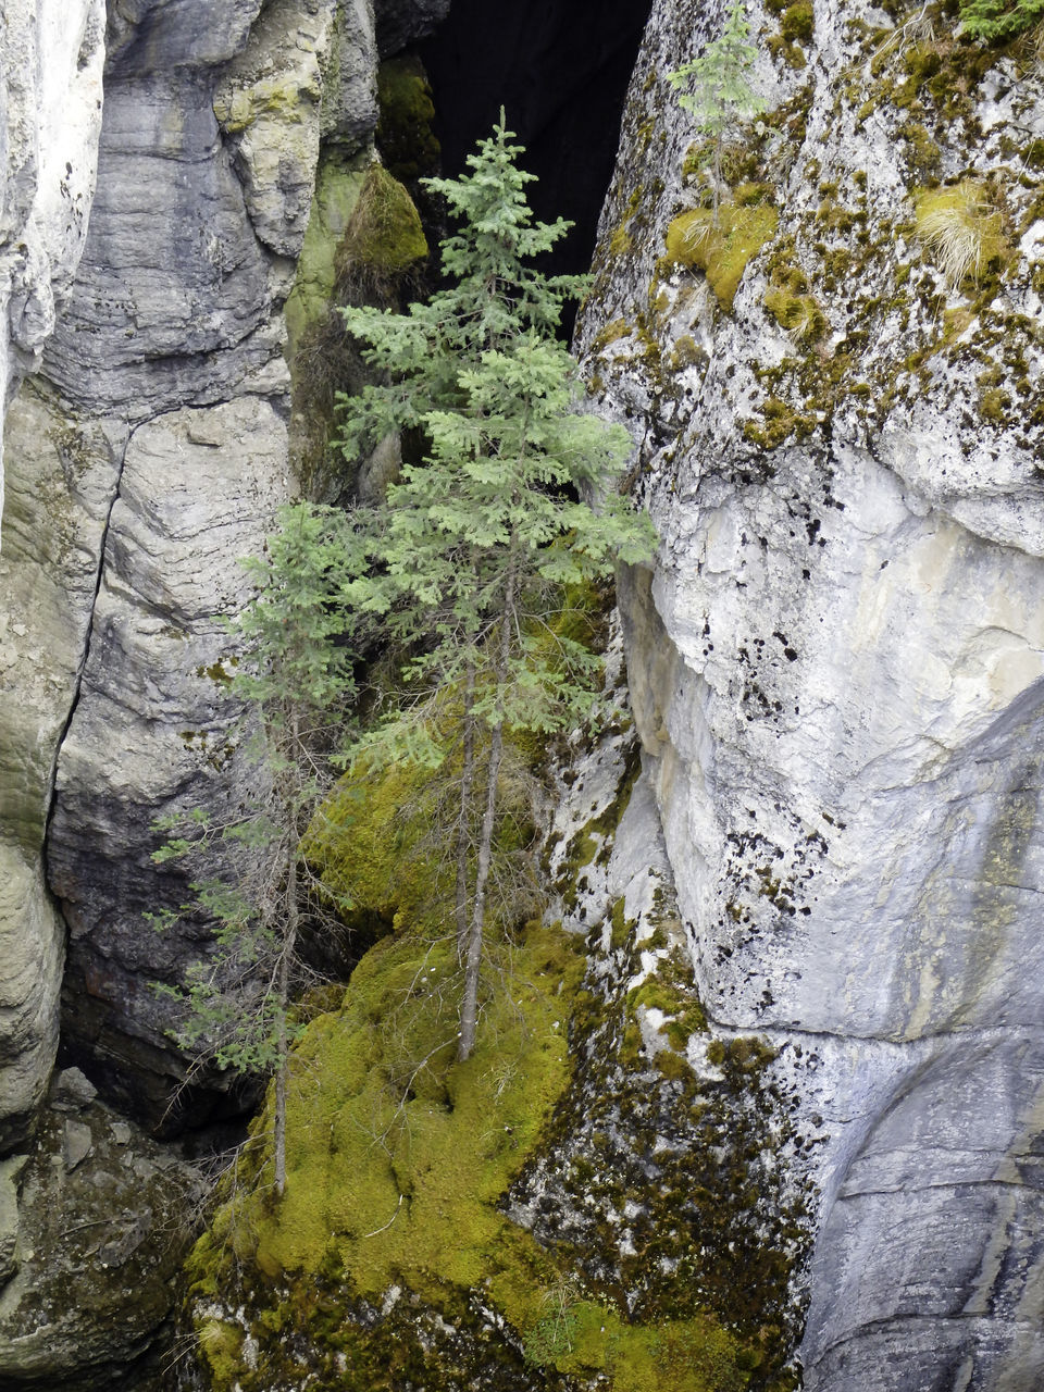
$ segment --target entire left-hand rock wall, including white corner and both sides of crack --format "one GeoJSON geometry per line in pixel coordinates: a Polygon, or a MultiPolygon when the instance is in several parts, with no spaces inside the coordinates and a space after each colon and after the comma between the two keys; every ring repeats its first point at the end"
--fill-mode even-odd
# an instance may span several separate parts
{"type": "Polygon", "coordinates": [[[366,3],[135,0],[107,53],[100,0],[74,10],[15,6],[6,36],[8,377],[46,355],[7,422],[0,1148],[54,1058],[67,927],[71,1052],[153,1125],[184,1073],[149,981],[199,930],[145,926],[150,824],[246,777],[220,615],[294,489],[281,310],[316,170],[365,166],[376,122],[366,3]]]}

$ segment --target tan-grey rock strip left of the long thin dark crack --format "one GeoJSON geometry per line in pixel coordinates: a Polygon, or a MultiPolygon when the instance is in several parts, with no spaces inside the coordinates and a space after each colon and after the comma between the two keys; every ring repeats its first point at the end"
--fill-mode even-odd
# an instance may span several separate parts
{"type": "Polygon", "coordinates": [[[0,555],[0,1148],[21,1140],[57,1043],[64,926],[42,849],[75,700],[125,427],[25,388],[6,423],[0,555]]]}

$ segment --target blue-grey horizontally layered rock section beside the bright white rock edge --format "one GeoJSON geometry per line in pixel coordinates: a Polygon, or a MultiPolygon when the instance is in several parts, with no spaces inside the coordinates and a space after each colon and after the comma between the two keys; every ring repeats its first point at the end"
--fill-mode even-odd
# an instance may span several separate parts
{"type": "Polygon", "coordinates": [[[107,88],[90,231],[46,352],[49,379],[86,411],[141,420],[217,401],[278,351],[214,81],[160,67],[107,88]]]}

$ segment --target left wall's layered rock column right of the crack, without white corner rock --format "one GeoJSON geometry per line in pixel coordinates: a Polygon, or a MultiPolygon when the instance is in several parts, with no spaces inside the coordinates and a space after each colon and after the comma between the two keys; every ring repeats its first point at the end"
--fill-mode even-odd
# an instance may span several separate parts
{"type": "Polygon", "coordinates": [[[177,980],[200,934],[143,930],[185,888],[152,864],[152,823],[224,806],[252,777],[221,615],[248,596],[237,558],[292,494],[281,306],[320,145],[365,155],[376,120],[367,7],[251,0],[212,18],[145,6],[117,25],[90,235],[45,363],[67,404],[129,427],[47,857],[68,1050],[152,1125],[185,1065],[149,983],[177,980]]]}

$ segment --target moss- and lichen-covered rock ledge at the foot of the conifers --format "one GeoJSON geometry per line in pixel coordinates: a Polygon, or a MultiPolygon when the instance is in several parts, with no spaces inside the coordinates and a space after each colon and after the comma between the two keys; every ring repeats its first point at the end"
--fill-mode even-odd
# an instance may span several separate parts
{"type": "MultiPolygon", "coordinates": [[[[610,841],[635,774],[625,760],[599,823],[610,841]]],[[[338,798],[352,806],[348,785],[338,798]]],[[[750,1207],[759,1180],[745,1166],[767,1141],[735,1121],[775,1115],[770,1054],[729,1044],[711,1072],[728,1076],[736,1114],[709,1100],[690,1062],[709,1036],[677,922],[657,912],[650,933],[618,899],[586,954],[557,924],[505,933],[477,1048],[459,1065],[457,954],[416,892],[436,870],[411,828],[416,806],[398,773],[356,800],[342,869],[361,912],[394,928],[298,1045],[284,1197],[270,1183],[267,1115],[223,1185],[188,1264],[193,1375],[213,1392],[305,1379],[319,1392],[791,1388],[799,1303],[777,1306],[795,1239],[770,1222],[770,1247],[781,1246],[766,1247],[766,1205],[750,1207]],[[636,1105],[618,1150],[607,1109],[625,1093],[636,1105]],[[603,1116],[606,1130],[592,1132],[603,1116]],[[683,1143],[650,1165],[642,1155],[671,1118],[683,1143]],[[714,1137],[734,1134],[741,1151],[715,1182],[714,1137]],[[690,1193],[678,1217],[690,1169],[699,1196],[707,1189],[696,1225],[690,1193]],[[626,1228],[608,1201],[631,1215],[626,1228]],[[707,1247],[711,1229],[721,1251],[707,1247]],[[640,1237],[633,1250],[628,1235],[640,1237]],[[741,1256],[722,1265],[734,1239],[741,1256]]]]}

